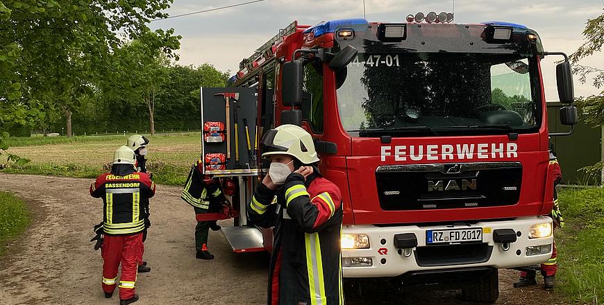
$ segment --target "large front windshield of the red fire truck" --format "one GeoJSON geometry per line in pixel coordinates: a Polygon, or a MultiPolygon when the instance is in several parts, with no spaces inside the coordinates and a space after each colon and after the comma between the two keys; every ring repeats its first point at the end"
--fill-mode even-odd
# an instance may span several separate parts
{"type": "MultiPolygon", "coordinates": [[[[337,89],[353,136],[537,132],[535,57],[496,53],[358,53],[337,89]]],[[[343,74],[343,73],[342,73],[343,74]]]]}

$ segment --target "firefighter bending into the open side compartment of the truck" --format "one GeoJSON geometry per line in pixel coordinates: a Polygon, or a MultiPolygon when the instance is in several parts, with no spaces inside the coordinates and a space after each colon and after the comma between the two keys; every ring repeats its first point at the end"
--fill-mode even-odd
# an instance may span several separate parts
{"type": "MultiPolygon", "coordinates": [[[[181,194],[193,207],[195,214],[206,214],[217,211],[226,198],[219,189],[219,184],[210,177],[203,175],[203,162],[201,159],[192,166],[181,194]]],[[[208,250],[209,229],[218,231],[220,226],[216,220],[197,221],[195,226],[195,257],[196,259],[214,259],[214,254],[208,250]]]]}

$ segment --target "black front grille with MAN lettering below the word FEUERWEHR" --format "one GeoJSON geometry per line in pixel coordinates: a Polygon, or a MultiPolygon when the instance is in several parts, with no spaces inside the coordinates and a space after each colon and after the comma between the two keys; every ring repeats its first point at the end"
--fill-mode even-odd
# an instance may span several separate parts
{"type": "Polygon", "coordinates": [[[516,204],[519,162],[379,166],[376,182],[385,211],[460,209],[516,204]]]}

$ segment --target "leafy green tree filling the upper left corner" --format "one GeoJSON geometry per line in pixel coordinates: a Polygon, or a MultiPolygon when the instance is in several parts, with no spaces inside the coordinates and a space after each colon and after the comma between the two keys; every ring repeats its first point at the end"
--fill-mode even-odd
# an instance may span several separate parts
{"type": "MultiPolygon", "coordinates": [[[[0,0],[0,130],[37,121],[50,104],[69,117],[111,51],[149,33],[146,24],[165,17],[171,2],[0,0]]],[[[157,42],[180,38],[172,29],[155,33],[157,42]]],[[[174,44],[158,47],[171,54],[174,44]]]]}

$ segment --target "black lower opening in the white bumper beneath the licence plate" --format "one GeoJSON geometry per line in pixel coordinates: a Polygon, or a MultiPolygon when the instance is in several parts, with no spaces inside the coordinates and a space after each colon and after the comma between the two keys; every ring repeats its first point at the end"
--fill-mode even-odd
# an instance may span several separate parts
{"type": "Polygon", "coordinates": [[[493,246],[487,243],[467,243],[462,245],[428,245],[417,247],[415,260],[420,267],[439,265],[467,265],[484,263],[491,258],[493,246]]]}

